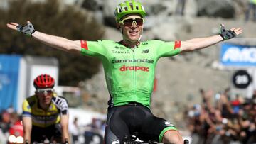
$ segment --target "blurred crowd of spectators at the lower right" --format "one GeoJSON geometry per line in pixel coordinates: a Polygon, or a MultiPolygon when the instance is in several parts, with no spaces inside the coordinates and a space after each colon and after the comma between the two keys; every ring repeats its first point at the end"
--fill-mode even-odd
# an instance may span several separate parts
{"type": "Polygon", "coordinates": [[[256,143],[256,91],[250,99],[200,90],[201,104],[186,110],[192,143],[196,144],[253,144],[256,143]]]}

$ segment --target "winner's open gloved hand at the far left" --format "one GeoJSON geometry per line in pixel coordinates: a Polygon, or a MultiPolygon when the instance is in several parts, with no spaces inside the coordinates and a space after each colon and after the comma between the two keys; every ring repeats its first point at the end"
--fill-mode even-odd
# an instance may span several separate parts
{"type": "Polygon", "coordinates": [[[33,28],[33,25],[30,21],[27,21],[27,24],[26,26],[21,26],[20,24],[18,23],[7,23],[6,26],[8,28],[11,28],[13,30],[16,30],[16,31],[19,31],[25,35],[28,35],[28,36],[32,36],[32,33],[35,32],[35,28],[33,28]]]}

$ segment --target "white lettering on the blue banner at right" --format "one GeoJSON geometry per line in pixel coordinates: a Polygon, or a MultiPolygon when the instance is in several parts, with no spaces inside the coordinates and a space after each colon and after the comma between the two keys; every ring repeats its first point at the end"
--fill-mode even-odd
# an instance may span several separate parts
{"type": "Polygon", "coordinates": [[[256,48],[230,47],[222,57],[223,62],[256,62],[256,48]]]}

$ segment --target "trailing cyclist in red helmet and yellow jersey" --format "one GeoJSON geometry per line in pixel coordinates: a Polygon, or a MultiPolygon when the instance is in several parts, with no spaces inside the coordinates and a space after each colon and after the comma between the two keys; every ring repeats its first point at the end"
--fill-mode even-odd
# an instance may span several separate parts
{"type": "Polygon", "coordinates": [[[36,92],[23,101],[24,142],[68,143],[68,102],[54,92],[55,81],[48,74],[34,79],[36,92]]]}

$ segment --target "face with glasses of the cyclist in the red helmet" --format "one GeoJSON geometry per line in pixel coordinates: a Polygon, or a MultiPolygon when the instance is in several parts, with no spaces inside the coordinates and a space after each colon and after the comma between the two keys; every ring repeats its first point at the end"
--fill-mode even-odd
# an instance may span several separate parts
{"type": "Polygon", "coordinates": [[[40,104],[47,106],[53,97],[53,89],[38,89],[36,91],[40,104]]]}

